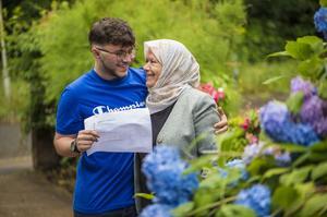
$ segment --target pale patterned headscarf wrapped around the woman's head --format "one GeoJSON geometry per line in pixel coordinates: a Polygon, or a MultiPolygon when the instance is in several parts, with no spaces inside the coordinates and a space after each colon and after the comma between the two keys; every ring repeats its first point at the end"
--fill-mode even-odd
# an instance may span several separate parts
{"type": "Polygon", "coordinates": [[[199,65],[187,48],[175,40],[144,43],[144,55],[152,51],[162,65],[157,83],[148,88],[146,105],[150,113],[171,106],[185,88],[199,84],[199,65]]]}

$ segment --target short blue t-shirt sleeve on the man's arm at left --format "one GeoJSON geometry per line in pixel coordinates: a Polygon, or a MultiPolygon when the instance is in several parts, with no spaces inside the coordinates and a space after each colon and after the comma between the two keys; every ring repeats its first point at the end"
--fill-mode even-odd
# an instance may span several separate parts
{"type": "Polygon", "coordinates": [[[63,135],[76,134],[84,129],[80,116],[78,97],[70,88],[65,88],[60,97],[57,108],[56,132],[63,135]]]}

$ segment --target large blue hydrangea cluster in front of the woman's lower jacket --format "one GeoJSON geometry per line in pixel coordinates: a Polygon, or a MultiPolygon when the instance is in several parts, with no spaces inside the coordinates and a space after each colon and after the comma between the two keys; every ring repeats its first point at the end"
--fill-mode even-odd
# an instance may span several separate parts
{"type": "Polygon", "coordinates": [[[191,200],[198,180],[196,173],[184,174],[186,168],[179,150],[171,146],[157,146],[146,156],[142,171],[147,178],[148,189],[155,192],[154,202],[157,204],[146,207],[142,216],[159,216],[147,214],[162,213],[191,200]]]}

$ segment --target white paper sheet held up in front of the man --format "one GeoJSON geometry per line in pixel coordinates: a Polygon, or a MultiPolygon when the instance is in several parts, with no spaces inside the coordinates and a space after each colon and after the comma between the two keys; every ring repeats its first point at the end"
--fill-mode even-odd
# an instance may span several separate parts
{"type": "Polygon", "coordinates": [[[86,152],[150,153],[152,121],[147,108],[92,116],[84,120],[86,130],[99,134],[98,142],[86,152]]]}

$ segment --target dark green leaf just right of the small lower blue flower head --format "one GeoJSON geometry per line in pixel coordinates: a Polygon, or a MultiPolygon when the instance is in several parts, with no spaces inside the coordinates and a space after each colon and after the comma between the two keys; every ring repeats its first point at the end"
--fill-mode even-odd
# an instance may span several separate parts
{"type": "Polygon", "coordinates": [[[272,195],[272,207],[275,207],[274,209],[287,209],[296,201],[298,195],[298,191],[291,186],[277,188],[272,195]]]}

